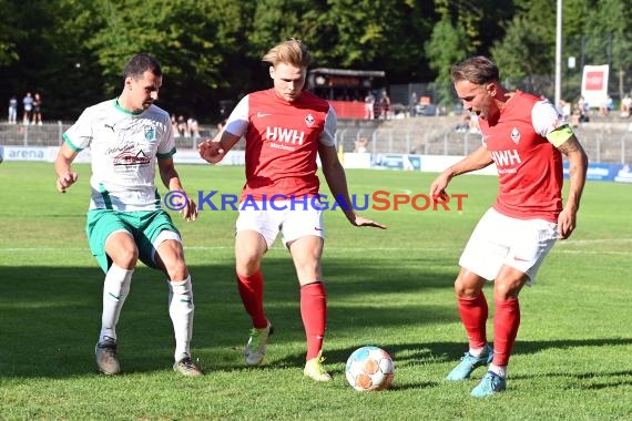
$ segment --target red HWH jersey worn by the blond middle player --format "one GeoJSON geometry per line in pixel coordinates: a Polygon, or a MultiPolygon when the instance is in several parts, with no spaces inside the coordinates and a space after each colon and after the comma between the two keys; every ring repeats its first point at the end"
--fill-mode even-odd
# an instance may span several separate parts
{"type": "Polygon", "coordinates": [[[274,89],[246,95],[226,122],[230,133],[246,137],[242,199],[317,195],[318,144],[335,145],[335,126],[329,103],[309,92],[294,102],[278,97],[274,89]]]}

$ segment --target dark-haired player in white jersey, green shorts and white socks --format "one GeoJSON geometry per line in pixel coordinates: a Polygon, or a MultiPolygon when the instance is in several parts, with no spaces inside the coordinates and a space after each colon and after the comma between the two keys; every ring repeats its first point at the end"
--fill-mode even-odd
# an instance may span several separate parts
{"type": "MultiPolygon", "coordinates": [[[[182,239],[170,215],[161,208],[154,183],[155,166],[170,191],[184,188],[172,155],[175,142],[169,114],[154,105],[162,85],[160,64],[136,54],[123,70],[121,95],[83,111],[63,134],[55,161],[57,188],[65,193],[78,181],[71,163],[85,147],[92,155],[92,197],[86,234],[92,254],[105,273],[101,333],[95,347],[99,370],[121,371],[116,356],[116,322],[140,259],[167,277],[169,314],[175,333],[173,369],[187,377],[203,376],[191,358],[193,289],[182,239]]],[[[182,203],[185,220],[197,218],[188,198],[182,203]]]]}

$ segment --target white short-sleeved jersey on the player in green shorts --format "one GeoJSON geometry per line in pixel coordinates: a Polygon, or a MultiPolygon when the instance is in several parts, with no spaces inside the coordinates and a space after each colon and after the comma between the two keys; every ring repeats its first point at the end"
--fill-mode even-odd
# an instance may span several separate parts
{"type": "Polygon", "coordinates": [[[160,208],[156,158],[170,158],[175,142],[169,114],[151,105],[132,113],[110,100],[90,106],[63,134],[73,150],[90,147],[90,209],[123,212],[160,208]]]}

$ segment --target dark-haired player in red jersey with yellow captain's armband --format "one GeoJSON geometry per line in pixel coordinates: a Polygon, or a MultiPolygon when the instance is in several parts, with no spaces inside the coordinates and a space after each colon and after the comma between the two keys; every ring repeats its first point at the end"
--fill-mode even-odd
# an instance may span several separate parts
{"type": "Polygon", "coordinates": [[[465,109],[479,117],[482,145],[440,174],[430,194],[442,195],[452,177],[492,163],[499,191],[459,260],[455,290],[469,350],[448,380],[465,380],[477,367],[490,364],[471,391],[473,397],[487,397],[507,387],[507,364],[520,326],[518,294],[536,279],[555,239],[568,238],[575,228],[588,158],[555,107],[541,97],[509,92],[489,59],[465,60],[451,68],[451,78],[465,109]],[[564,206],[562,154],[570,164],[564,206]],[[491,280],[493,349],[486,336],[488,306],[482,291],[491,280]]]}

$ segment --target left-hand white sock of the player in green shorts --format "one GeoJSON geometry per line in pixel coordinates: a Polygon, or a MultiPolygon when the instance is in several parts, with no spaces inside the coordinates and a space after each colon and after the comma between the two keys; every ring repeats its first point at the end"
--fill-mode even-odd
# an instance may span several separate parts
{"type": "Polygon", "coordinates": [[[130,292],[130,284],[134,270],[123,269],[112,264],[105,281],[103,283],[103,312],[101,315],[101,333],[99,341],[105,337],[116,340],[116,324],[121,315],[121,308],[130,292]]]}

